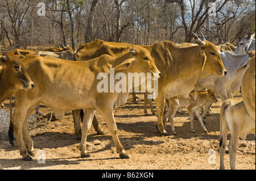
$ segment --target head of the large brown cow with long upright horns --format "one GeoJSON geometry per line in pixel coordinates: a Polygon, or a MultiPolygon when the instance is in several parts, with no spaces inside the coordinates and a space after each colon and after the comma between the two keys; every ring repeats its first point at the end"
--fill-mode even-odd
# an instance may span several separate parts
{"type": "Polygon", "coordinates": [[[200,46],[204,77],[209,77],[210,75],[218,75],[218,77],[225,76],[227,71],[224,68],[220,53],[218,53],[216,46],[209,41],[200,40],[195,33],[193,33],[193,36],[196,43],[200,46]]]}

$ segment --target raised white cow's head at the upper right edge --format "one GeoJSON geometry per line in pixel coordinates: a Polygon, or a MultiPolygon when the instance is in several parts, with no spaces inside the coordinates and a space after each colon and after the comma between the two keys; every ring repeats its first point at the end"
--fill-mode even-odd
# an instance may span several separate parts
{"type": "Polygon", "coordinates": [[[249,47],[253,43],[253,41],[255,41],[255,39],[251,36],[251,33],[249,32],[248,35],[243,37],[240,43],[237,45],[236,50],[234,50],[234,54],[245,54],[249,50],[249,47]]]}

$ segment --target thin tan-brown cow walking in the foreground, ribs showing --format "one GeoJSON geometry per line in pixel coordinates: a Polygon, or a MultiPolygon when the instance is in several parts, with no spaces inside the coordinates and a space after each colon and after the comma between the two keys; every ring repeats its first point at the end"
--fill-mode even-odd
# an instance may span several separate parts
{"type": "MultiPolygon", "coordinates": [[[[116,85],[120,81],[117,82],[116,77],[121,74],[128,78],[128,82],[127,74],[129,73],[154,73],[154,75],[156,73],[158,76],[153,79],[159,78],[160,72],[146,49],[134,47],[118,58],[103,55],[90,61],[67,61],[31,55],[23,58],[23,62],[31,78],[39,86],[33,90],[20,90],[15,93],[16,110],[10,123],[9,140],[13,144],[13,133],[15,133],[20,154],[25,161],[31,161],[30,155],[34,155],[34,143],[28,134],[26,123],[39,103],[52,108],[57,119],[61,119],[68,110],[85,109],[80,144],[81,157],[89,157],[86,151],[86,137],[96,110],[100,111],[120,157],[129,158],[119,142],[114,120],[114,109],[126,103],[129,92],[112,92],[110,88],[112,83],[115,83],[115,89],[118,87],[116,85]],[[114,68],[116,75],[114,75],[114,82],[110,82],[111,77],[109,78],[109,74],[112,76],[111,68],[114,68]],[[101,80],[102,77],[105,78],[101,80]],[[103,91],[102,82],[104,83],[103,91]]],[[[124,78],[125,81],[126,78],[124,78]]],[[[122,89],[129,89],[130,86],[133,88],[131,83],[126,83],[122,89]]]]}

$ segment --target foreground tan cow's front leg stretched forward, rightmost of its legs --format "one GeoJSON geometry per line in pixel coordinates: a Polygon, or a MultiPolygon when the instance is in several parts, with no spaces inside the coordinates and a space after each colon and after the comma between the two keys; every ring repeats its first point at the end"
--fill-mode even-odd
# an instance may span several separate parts
{"type": "Polygon", "coordinates": [[[125,150],[123,149],[123,146],[121,145],[121,142],[119,141],[118,135],[117,135],[117,125],[115,124],[114,119],[114,112],[112,111],[101,111],[102,115],[105,118],[106,124],[108,126],[109,132],[113,137],[115,148],[117,148],[117,152],[119,153],[119,156],[121,158],[129,158],[129,156],[126,154],[125,150]]]}

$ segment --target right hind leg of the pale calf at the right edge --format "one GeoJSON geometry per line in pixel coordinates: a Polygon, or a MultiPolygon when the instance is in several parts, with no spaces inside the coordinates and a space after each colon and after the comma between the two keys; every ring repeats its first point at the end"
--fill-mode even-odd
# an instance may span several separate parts
{"type": "Polygon", "coordinates": [[[236,154],[237,154],[237,145],[238,145],[239,136],[240,136],[240,133],[231,132],[231,139],[228,146],[231,170],[236,170],[236,154]]]}

